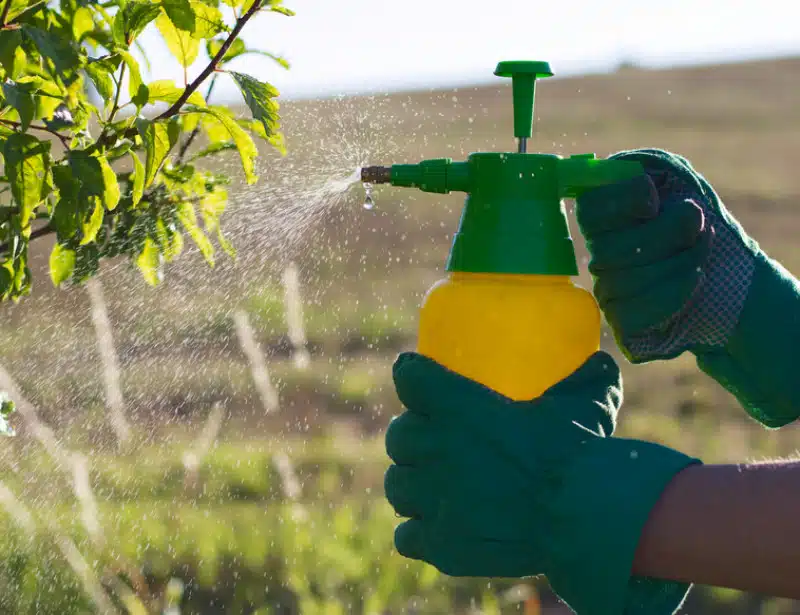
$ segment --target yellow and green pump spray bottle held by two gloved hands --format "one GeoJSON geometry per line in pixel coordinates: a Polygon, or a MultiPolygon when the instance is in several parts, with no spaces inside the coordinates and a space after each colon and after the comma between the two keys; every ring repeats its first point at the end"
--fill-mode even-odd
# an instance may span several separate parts
{"type": "Polygon", "coordinates": [[[467,194],[447,261],[428,292],[417,351],[514,400],[529,400],[574,372],[600,346],[600,312],[576,286],[563,199],[631,179],[637,162],[594,154],[527,153],[535,83],[546,62],[501,62],[511,77],[516,153],[474,153],[418,164],[366,167],[365,183],[467,194]]]}

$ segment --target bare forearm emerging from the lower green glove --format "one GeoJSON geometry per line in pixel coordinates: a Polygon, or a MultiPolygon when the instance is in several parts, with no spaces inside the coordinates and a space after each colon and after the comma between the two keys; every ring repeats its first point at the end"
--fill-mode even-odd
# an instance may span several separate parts
{"type": "Polygon", "coordinates": [[[800,462],[687,468],[653,509],[633,573],[800,599],[800,462]]]}

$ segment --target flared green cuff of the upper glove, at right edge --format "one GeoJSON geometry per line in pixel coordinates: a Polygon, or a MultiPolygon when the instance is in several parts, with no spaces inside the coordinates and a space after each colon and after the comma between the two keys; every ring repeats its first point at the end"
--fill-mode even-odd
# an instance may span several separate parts
{"type": "Polygon", "coordinates": [[[739,322],[722,348],[693,350],[697,365],[769,428],[800,417],[800,283],[763,252],[739,322]]]}

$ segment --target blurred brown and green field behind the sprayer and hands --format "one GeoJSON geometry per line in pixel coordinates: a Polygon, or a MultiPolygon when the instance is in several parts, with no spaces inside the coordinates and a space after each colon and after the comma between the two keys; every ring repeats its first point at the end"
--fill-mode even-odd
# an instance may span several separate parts
{"type": "MultiPolygon", "coordinates": [[[[800,58],[551,79],[537,91],[530,151],[683,154],[797,273],[798,83],[800,58]]],[[[102,611],[91,588],[124,597],[121,579],[139,600],[128,597],[132,613],[566,613],[545,583],[449,579],[392,548],[382,433],[401,408],[390,366],[414,345],[462,196],[379,188],[367,211],[359,185],[333,204],[315,188],[357,164],[512,149],[510,88],[286,102],[283,113],[289,156],[265,151],[260,183],[231,189],[223,222],[236,263],[209,270],[185,254],[156,289],[107,264],[94,288],[113,346],[98,346],[87,289],[49,287],[47,240],[33,296],[0,307],[0,365],[27,400],[18,436],[0,441],[0,612],[102,611]],[[260,390],[248,330],[268,371],[260,390]],[[122,450],[103,348],[119,363],[131,429],[122,450]],[[41,423],[23,420],[34,409],[41,423]]],[[[604,344],[615,352],[608,333],[604,344]]],[[[800,442],[796,427],[748,419],[688,356],[637,367],[615,356],[620,435],[707,462],[788,456],[800,442]]],[[[684,612],[800,606],[698,587],[684,612]]]]}

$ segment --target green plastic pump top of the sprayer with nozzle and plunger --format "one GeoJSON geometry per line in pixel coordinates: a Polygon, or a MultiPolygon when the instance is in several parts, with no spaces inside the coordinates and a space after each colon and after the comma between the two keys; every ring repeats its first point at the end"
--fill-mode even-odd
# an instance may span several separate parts
{"type": "Polygon", "coordinates": [[[517,152],[474,153],[417,164],[366,167],[361,179],[425,192],[466,192],[448,271],[577,275],[575,250],[562,200],[583,190],[632,179],[638,162],[577,154],[527,153],[532,136],[536,79],[550,77],[547,62],[500,62],[495,75],[510,77],[517,152]]]}

